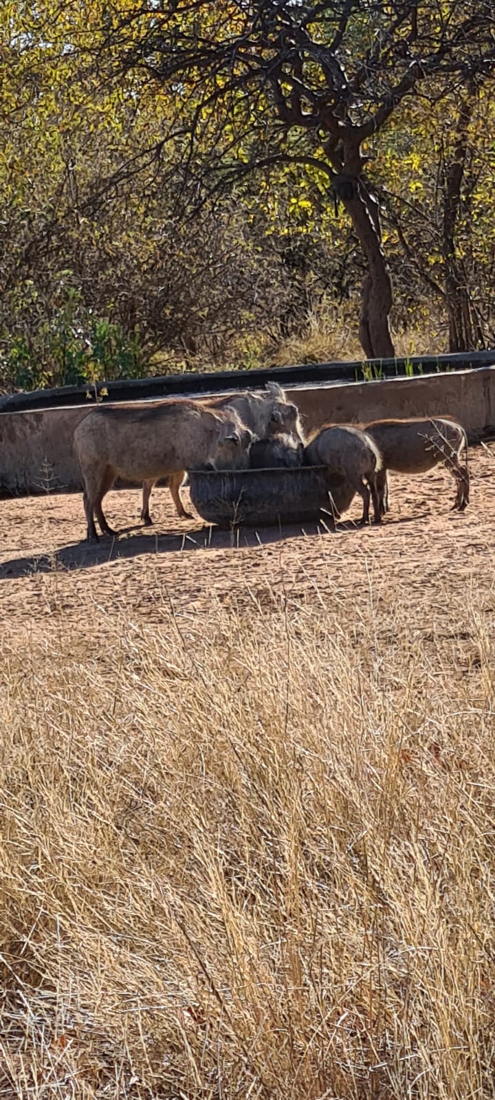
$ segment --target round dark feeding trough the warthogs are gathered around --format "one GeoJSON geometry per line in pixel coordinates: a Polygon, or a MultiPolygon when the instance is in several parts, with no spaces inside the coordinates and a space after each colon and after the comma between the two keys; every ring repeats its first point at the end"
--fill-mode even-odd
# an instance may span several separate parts
{"type": "Polygon", "coordinates": [[[208,524],[244,525],[332,522],[333,510],[345,512],[354,492],[327,466],[270,470],[190,471],[190,498],[208,524]]]}

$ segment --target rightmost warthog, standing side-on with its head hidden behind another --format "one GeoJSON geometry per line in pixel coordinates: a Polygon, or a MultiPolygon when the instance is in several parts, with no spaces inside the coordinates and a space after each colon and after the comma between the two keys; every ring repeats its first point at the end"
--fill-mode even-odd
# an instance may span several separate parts
{"type": "Polygon", "coordinates": [[[468,438],[462,425],[451,417],[374,420],[364,428],[382,455],[377,476],[381,513],[388,512],[387,470],[421,474],[444,463],[457,482],[453,508],[463,512],[470,499],[468,438]],[[465,462],[461,454],[465,452],[465,462]]]}

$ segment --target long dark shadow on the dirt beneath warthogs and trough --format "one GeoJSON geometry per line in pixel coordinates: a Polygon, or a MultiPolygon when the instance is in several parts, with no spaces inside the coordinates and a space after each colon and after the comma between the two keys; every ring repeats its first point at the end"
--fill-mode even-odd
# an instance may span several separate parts
{"type": "MultiPolygon", "coordinates": [[[[427,515],[425,513],[425,515],[427,515]]],[[[410,524],[421,516],[415,515],[394,520],[396,524],[410,524]]],[[[391,526],[386,520],[384,526],[391,526]]],[[[353,520],[337,524],[337,532],[359,535],[363,529],[353,520]]],[[[169,530],[166,532],[143,534],[141,525],[124,527],[119,530],[118,538],[102,537],[98,542],[70,542],[56,550],[11,558],[0,564],[0,581],[25,576],[29,573],[53,573],[56,570],[92,569],[106,562],[138,558],[143,553],[182,553],[194,550],[246,549],[250,547],[270,546],[300,536],[331,536],[324,524],[288,524],[279,527],[240,527],[224,530],[208,524],[186,530],[169,530]]]]}

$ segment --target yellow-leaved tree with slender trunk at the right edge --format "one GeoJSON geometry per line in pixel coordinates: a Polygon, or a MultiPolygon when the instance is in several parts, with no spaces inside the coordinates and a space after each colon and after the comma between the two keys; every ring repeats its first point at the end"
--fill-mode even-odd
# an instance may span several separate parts
{"type": "Polygon", "coordinates": [[[421,296],[426,288],[443,307],[450,351],[493,346],[491,87],[477,77],[441,100],[432,89],[414,121],[415,130],[403,112],[381,164],[391,245],[396,234],[410,290],[421,296]]]}

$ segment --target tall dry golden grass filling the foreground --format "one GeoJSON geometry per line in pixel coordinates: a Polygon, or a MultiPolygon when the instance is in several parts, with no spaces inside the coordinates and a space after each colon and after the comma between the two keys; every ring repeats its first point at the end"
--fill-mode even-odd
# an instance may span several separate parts
{"type": "Polygon", "coordinates": [[[0,1097],[493,1094],[483,585],[4,642],[0,1097]]]}

